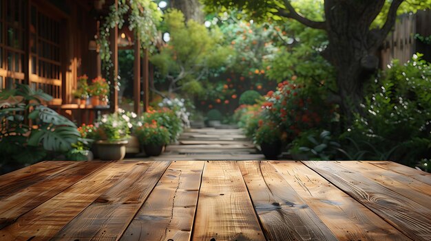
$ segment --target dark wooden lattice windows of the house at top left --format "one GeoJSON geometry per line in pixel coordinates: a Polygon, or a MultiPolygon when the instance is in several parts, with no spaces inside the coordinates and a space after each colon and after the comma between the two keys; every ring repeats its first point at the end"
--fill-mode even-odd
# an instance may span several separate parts
{"type": "Polygon", "coordinates": [[[59,19],[32,1],[0,0],[0,89],[23,83],[29,71],[30,87],[61,102],[60,27],[59,19]],[[30,16],[25,16],[28,4],[30,16]],[[26,49],[29,69],[25,69],[26,49]]]}

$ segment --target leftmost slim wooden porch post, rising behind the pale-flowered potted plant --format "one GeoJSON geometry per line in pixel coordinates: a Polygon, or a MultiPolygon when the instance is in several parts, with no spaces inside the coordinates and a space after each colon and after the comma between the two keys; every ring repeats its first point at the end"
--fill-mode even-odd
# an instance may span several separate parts
{"type": "MultiPolygon", "coordinates": [[[[115,0],[115,8],[118,10],[118,0],[115,0]]],[[[109,75],[109,78],[112,78],[112,91],[111,91],[111,98],[110,98],[110,105],[111,105],[111,111],[115,112],[118,110],[118,85],[117,85],[117,78],[118,78],[118,25],[116,24],[115,27],[111,30],[111,60],[112,66],[111,74],[109,75]]]]}

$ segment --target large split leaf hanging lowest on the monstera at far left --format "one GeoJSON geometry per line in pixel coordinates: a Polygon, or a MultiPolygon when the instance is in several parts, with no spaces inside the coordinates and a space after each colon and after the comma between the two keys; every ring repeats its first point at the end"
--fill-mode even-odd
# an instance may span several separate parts
{"type": "Polygon", "coordinates": [[[81,137],[76,127],[50,126],[32,130],[28,139],[29,146],[43,145],[43,149],[54,152],[67,152],[72,149],[72,144],[81,137]]]}

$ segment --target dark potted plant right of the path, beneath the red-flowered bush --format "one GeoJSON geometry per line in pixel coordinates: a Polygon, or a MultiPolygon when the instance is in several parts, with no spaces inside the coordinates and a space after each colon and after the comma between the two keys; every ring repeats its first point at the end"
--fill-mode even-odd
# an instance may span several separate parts
{"type": "Polygon", "coordinates": [[[282,150],[281,131],[275,122],[263,124],[259,120],[259,128],[255,133],[255,143],[260,146],[266,159],[276,160],[282,150]]]}

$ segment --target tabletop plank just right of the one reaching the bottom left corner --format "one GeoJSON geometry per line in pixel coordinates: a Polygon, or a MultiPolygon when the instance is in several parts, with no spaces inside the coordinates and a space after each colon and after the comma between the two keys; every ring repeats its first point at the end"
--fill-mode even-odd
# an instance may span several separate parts
{"type": "Polygon", "coordinates": [[[118,240],[169,163],[138,163],[56,233],[52,240],[118,240]]]}

